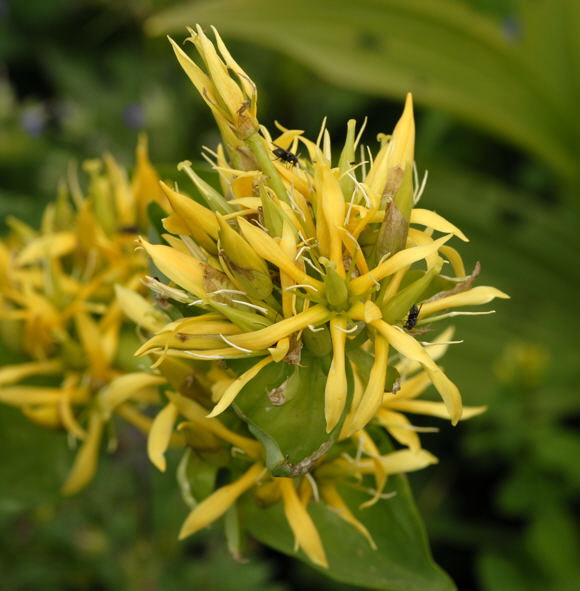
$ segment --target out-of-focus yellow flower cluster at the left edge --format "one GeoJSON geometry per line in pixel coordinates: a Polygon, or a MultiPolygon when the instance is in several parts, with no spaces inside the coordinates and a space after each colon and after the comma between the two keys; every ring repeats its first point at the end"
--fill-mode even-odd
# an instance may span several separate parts
{"type": "MultiPolygon", "coordinates": [[[[19,338],[9,345],[23,356],[22,363],[0,368],[0,402],[80,441],[65,494],[92,479],[112,415],[142,425],[146,417],[131,407],[157,404],[165,382],[135,371],[131,332],[115,303],[116,287],[130,294],[138,311],[141,296],[133,290],[147,259],[135,252],[135,239],[146,229],[147,203],[165,199],[144,138],[137,155],[132,183],[112,157],[90,161],[85,194],[75,185],[71,195],[61,191],[40,231],[13,220],[0,243],[0,322],[12,323],[19,338]]],[[[163,319],[155,311],[145,322],[154,329],[163,319]]]]}

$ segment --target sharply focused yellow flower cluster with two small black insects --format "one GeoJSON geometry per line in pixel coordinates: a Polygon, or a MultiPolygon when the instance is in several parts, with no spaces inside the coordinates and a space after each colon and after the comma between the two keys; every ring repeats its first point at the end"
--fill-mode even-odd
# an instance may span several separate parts
{"type": "MultiPolygon", "coordinates": [[[[224,144],[213,152],[222,191],[207,185],[189,162],[181,163],[201,199],[162,183],[171,209],[163,220],[164,244],[141,239],[163,276],[149,277],[149,286],[156,297],[175,302],[183,317],[151,330],[137,354],[151,356],[155,366],[170,359],[189,363],[203,376],[197,393],[168,394],[150,432],[149,455],[165,468],[163,453],[182,416],[177,432],[190,434],[190,449],[207,454],[225,446],[236,456],[232,482],[191,503],[181,537],[254,489],[261,502],[283,503],[296,548],[326,566],[310,502],[327,503],[374,547],[337,484],[372,476],[363,507],[374,504],[385,496],[389,474],[436,462],[404,413],[456,424],[483,411],[462,406],[458,388],[437,364],[454,342],[452,329],[429,342],[422,335],[436,322],[476,313],[454,308],[508,296],[472,287],[479,268],[468,274],[449,244],[453,238],[467,241],[465,235],[417,207],[422,186],[410,95],[392,135],[380,136],[376,155],[361,149],[358,156],[363,129],[357,132],[349,121],[336,158],[324,127],[313,142],[298,130],[278,126],[273,137],[259,126],[255,87],[217,32],[219,53],[201,28],[190,33],[205,70],[171,43],[222,132],[224,144]],[[300,147],[306,156],[297,155],[300,147]],[[326,368],[321,391],[301,377],[318,364],[326,368]],[[263,376],[277,368],[282,377],[264,387],[263,376]],[[430,385],[442,402],[418,399],[430,385]],[[244,406],[244,396],[254,396],[260,408],[244,406]],[[315,438],[322,443],[302,455],[298,443],[280,443],[288,433],[274,417],[284,416],[285,405],[300,396],[312,410],[306,407],[303,433],[294,438],[308,439],[309,428],[316,430],[309,422],[319,402],[324,422],[315,438]],[[272,411],[272,420],[260,423],[254,411],[272,411]],[[367,429],[371,424],[402,447],[381,451],[367,429]],[[280,443],[275,458],[272,440],[280,443]],[[292,461],[289,450],[296,452],[292,461]]],[[[125,293],[120,301],[131,314],[128,298],[125,293]]]]}

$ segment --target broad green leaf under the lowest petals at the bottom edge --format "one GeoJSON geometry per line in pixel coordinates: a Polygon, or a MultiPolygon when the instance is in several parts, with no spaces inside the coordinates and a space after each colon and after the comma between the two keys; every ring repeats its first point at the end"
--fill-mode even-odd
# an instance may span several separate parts
{"type": "Polygon", "coordinates": [[[282,503],[268,508],[246,502],[245,526],[258,540],[304,560],[326,576],[359,587],[383,591],[452,591],[455,586],[431,558],[425,531],[404,476],[391,476],[390,499],[360,511],[368,494],[339,488],[357,519],[371,533],[378,549],[324,503],[309,510],[328,558],[328,570],[312,565],[306,556],[294,553],[294,539],[284,517],[282,503]]]}

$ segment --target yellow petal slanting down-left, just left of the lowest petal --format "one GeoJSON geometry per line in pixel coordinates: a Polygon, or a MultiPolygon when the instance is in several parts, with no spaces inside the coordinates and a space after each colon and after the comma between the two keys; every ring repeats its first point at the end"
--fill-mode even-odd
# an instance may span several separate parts
{"type": "Polygon", "coordinates": [[[262,464],[254,464],[241,478],[209,495],[187,516],[179,532],[179,539],[187,538],[221,517],[238,497],[260,480],[264,472],[262,464]]]}

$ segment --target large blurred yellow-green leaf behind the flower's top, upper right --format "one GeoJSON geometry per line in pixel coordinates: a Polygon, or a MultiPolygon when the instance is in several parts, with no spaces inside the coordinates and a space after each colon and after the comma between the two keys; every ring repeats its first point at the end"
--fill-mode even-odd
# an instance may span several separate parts
{"type": "Polygon", "coordinates": [[[521,2],[513,22],[510,32],[454,0],[205,0],[161,12],[149,29],[211,24],[358,91],[412,91],[578,180],[580,4],[521,2]]]}

